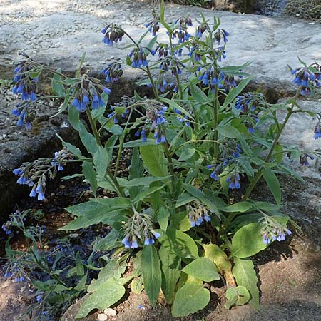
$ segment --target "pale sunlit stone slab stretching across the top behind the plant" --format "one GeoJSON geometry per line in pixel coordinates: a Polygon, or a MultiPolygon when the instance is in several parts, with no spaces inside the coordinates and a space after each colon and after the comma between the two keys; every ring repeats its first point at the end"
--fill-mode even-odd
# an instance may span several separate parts
{"type": "MultiPolygon", "coordinates": [[[[143,24],[151,19],[152,9],[141,1],[113,1],[108,6],[103,1],[30,1],[28,8],[11,4],[4,6],[0,17],[0,62],[1,71],[8,74],[19,51],[24,49],[35,59],[61,67],[64,71],[75,71],[81,52],[86,51],[86,66],[101,71],[113,58],[125,59],[128,44],[123,41],[121,48],[108,47],[101,42],[101,28],[110,22],[123,24],[135,39],[146,28],[143,24]],[[34,10],[34,14],[31,11],[34,10]],[[14,41],[12,41],[14,39],[14,41]]],[[[227,46],[228,58],[225,63],[242,64],[250,61],[246,69],[253,73],[253,82],[263,88],[275,88],[280,98],[294,87],[287,63],[293,68],[298,65],[297,56],[307,63],[321,60],[319,44],[321,26],[299,21],[295,18],[275,18],[257,15],[233,14],[226,11],[211,11],[191,6],[170,4],[166,9],[168,20],[190,14],[200,18],[200,11],[206,18],[219,16],[222,27],[230,32],[227,46]]],[[[191,27],[193,33],[195,26],[191,27]]],[[[160,32],[159,41],[165,41],[165,32],[160,32]]],[[[148,35],[146,41],[151,39],[148,35]]],[[[186,52],[185,52],[186,54],[186,52]]],[[[127,71],[126,71],[127,72],[127,71]]],[[[128,80],[135,81],[136,70],[128,73],[128,80]]],[[[123,88],[115,84],[117,91],[123,88]]]]}

